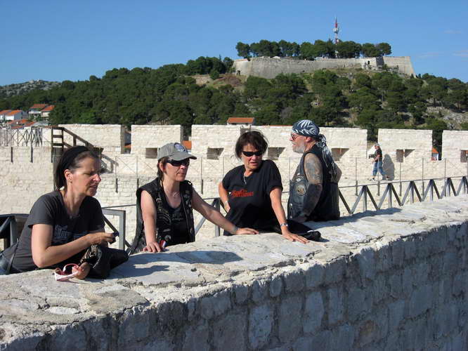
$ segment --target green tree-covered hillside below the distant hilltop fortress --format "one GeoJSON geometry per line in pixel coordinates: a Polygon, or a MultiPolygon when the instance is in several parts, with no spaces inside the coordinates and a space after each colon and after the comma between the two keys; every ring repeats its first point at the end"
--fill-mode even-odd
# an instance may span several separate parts
{"type": "Polygon", "coordinates": [[[253,116],[256,124],[285,125],[313,119],[319,126],[368,129],[430,128],[438,143],[448,129],[446,115],[468,129],[468,84],[424,74],[404,78],[363,69],[280,74],[275,79],[230,74],[230,58],[189,60],[158,69],[111,69],[102,78],[63,81],[47,91],[0,100],[0,110],[56,105],[52,124],[225,124],[231,116],[253,116]],[[208,84],[197,84],[204,74],[208,84]],[[208,77],[211,77],[209,79],[208,77]]]}

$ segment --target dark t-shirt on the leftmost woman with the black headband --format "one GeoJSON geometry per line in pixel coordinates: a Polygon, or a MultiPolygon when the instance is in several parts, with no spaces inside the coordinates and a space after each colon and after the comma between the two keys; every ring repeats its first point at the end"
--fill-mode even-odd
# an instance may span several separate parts
{"type": "MultiPolygon", "coordinates": [[[[32,206],[30,216],[27,217],[25,227],[21,232],[12,264],[16,270],[26,272],[37,269],[32,260],[31,250],[32,226],[35,224],[52,225],[52,246],[56,246],[79,239],[89,232],[103,229],[104,217],[99,201],[93,197],[85,197],[79,207],[78,216],[70,218],[60,192],[54,191],[42,195],[32,206]]],[[[13,254],[11,250],[4,251],[7,260],[11,258],[11,254],[13,254]]],[[[62,268],[67,263],[79,263],[83,254],[84,251],[53,266],[62,268]]]]}

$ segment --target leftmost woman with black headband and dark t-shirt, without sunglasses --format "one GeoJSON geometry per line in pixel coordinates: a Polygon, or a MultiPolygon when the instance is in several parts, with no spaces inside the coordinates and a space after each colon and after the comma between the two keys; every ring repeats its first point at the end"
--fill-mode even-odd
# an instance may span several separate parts
{"type": "MultiPolygon", "coordinates": [[[[93,198],[99,172],[100,161],[93,151],[84,146],[66,150],[56,167],[56,190],[34,203],[17,246],[1,253],[0,270],[19,273],[76,264],[91,245],[114,241],[113,234],[104,232],[103,212],[93,198]]],[[[72,273],[84,279],[90,269],[85,262],[73,267],[72,273]]]]}

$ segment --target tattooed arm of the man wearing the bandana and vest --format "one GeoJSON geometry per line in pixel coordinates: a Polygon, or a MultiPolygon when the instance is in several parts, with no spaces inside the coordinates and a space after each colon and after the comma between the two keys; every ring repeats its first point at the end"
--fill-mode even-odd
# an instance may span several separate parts
{"type": "Polygon", "coordinates": [[[306,154],[304,159],[304,170],[306,171],[306,178],[308,181],[308,188],[306,192],[306,199],[304,200],[304,207],[298,218],[294,218],[299,222],[304,222],[308,216],[316,208],[318,199],[323,189],[323,173],[322,164],[314,154],[306,154]]]}

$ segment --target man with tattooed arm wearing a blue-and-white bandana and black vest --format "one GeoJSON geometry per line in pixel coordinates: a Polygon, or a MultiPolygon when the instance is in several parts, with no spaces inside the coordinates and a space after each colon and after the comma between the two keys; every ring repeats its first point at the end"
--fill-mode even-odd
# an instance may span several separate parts
{"type": "Polygon", "coordinates": [[[342,172],[333,161],[325,135],[313,121],[302,119],[292,126],[290,142],[302,157],[290,181],[287,218],[297,223],[339,219],[342,172]]]}

